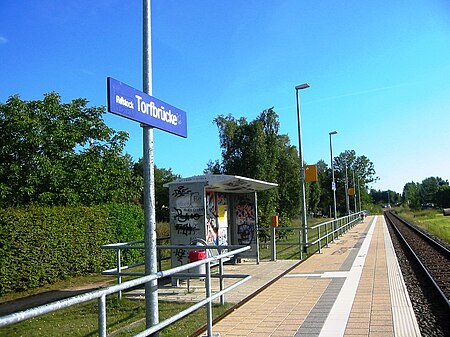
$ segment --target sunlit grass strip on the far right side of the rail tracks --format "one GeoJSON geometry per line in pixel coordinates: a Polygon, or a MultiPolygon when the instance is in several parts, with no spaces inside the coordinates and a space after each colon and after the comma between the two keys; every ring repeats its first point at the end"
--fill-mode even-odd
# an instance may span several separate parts
{"type": "Polygon", "coordinates": [[[444,216],[442,211],[435,209],[408,211],[403,209],[399,210],[398,213],[406,220],[450,243],[450,216],[444,216]]]}

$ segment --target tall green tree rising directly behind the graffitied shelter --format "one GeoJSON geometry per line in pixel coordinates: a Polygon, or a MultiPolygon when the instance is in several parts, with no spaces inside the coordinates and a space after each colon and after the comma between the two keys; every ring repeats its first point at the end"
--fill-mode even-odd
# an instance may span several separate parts
{"type": "Polygon", "coordinates": [[[290,147],[287,136],[278,134],[278,115],[273,108],[264,110],[251,122],[244,117],[236,119],[232,115],[220,115],[214,122],[219,129],[222,161],[220,164],[210,162],[208,170],[214,172],[220,167],[220,171],[225,174],[278,182],[278,189],[262,192],[258,196],[261,223],[268,224],[269,217],[280,211],[280,200],[284,210],[293,211],[295,197],[288,192],[292,188],[289,185],[293,184],[289,179],[295,179],[294,172],[298,172],[298,169],[280,174],[280,165],[295,169],[295,148],[290,147]]]}

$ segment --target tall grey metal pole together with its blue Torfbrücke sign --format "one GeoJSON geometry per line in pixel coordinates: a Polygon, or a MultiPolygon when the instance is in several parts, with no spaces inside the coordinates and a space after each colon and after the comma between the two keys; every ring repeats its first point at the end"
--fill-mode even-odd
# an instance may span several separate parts
{"type": "MultiPolygon", "coordinates": [[[[111,77],[107,79],[108,111],[141,123],[144,168],[145,273],[156,274],[156,217],[153,128],[187,137],[186,113],[152,94],[151,0],[142,1],[143,92],[111,77]]],[[[147,329],[159,323],[157,280],[145,284],[147,329]]],[[[159,332],[151,336],[159,336],[159,332]]]]}

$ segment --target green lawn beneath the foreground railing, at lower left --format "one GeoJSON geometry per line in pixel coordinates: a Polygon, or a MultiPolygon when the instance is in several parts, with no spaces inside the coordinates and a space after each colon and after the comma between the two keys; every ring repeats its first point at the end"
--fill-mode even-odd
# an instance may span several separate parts
{"type": "MultiPolygon", "coordinates": [[[[93,282],[104,282],[105,280],[112,281],[113,284],[115,282],[113,278],[101,275],[73,278],[68,281],[57,282],[53,285],[48,285],[27,292],[5,295],[0,298],[0,303],[27,296],[45,294],[51,291],[60,291],[65,287],[76,287],[91,284],[93,282]]],[[[189,306],[190,304],[186,303],[160,302],[160,321],[173,316],[175,313],[180,312],[189,306]]],[[[231,306],[232,304],[227,303],[224,306],[213,304],[213,316],[217,317],[231,306]]],[[[56,337],[61,335],[73,337],[97,336],[97,308],[97,301],[94,300],[63,310],[55,311],[20,323],[2,327],[0,329],[0,337],[56,337]]],[[[126,298],[122,301],[118,301],[117,295],[113,294],[107,297],[106,308],[108,335],[121,329],[118,336],[134,336],[145,329],[144,301],[129,300],[126,298]],[[130,326],[131,323],[137,321],[141,322],[130,326]]],[[[206,324],[206,309],[203,307],[162,330],[160,336],[188,336],[204,324],[206,324]]]]}

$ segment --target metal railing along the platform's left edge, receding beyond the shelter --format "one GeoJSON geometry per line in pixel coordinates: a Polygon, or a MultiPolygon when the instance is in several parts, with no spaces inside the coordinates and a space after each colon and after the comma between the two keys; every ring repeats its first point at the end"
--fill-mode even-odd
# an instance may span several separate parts
{"type": "MultiPolygon", "coordinates": [[[[362,219],[362,216],[365,214],[365,211],[361,211],[358,213],[353,213],[350,215],[343,216],[341,218],[333,219],[330,221],[326,221],[323,223],[319,223],[317,225],[307,227],[309,233],[311,231],[316,231],[317,238],[314,241],[310,242],[302,242],[302,231],[305,230],[303,227],[270,227],[270,228],[260,228],[259,231],[270,231],[270,259],[271,261],[276,261],[277,259],[277,245],[283,246],[293,246],[298,245],[300,251],[300,260],[303,259],[303,247],[314,247],[317,245],[317,250],[321,253],[322,247],[327,247],[330,242],[333,242],[335,239],[339,238],[339,236],[343,235],[347,232],[351,227],[355,226],[362,219]],[[298,231],[299,232],[299,242],[277,242],[277,232],[284,233],[284,236],[287,236],[285,233],[289,231],[298,231]],[[325,243],[323,243],[325,241],[325,243]]],[[[280,235],[279,235],[280,236],[280,235]]],[[[308,235],[310,237],[311,234],[308,235]]]]}

